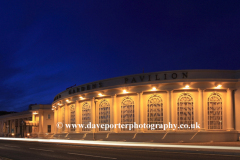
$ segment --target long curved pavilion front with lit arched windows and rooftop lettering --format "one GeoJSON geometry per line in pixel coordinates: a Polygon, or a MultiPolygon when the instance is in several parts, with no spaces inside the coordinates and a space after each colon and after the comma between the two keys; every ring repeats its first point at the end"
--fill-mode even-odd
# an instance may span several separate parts
{"type": "Polygon", "coordinates": [[[57,94],[52,103],[54,137],[151,142],[237,141],[239,79],[240,70],[180,70],[70,87],[57,94]],[[112,127],[99,127],[106,124],[112,127]],[[157,127],[150,128],[151,125],[157,127]]]}

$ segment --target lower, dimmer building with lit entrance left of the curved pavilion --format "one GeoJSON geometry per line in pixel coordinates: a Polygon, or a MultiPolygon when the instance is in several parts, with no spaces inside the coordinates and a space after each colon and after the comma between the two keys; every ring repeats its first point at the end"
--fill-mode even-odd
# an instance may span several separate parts
{"type": "Polygon", "coordinates": [[[0,116],[0,136],[51,137],[54,112],[51,105],[36,104],[29,110],[0,116]]]}

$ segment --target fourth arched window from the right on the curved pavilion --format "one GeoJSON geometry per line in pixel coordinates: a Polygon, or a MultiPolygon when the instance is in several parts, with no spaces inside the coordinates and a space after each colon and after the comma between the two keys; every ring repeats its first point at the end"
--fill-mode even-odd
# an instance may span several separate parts
{"type": "Polygon", "coordinates": [[[122,131],[134,130],[134,101],[130,97],[125,97],[121,103],[121,123],[125,128],[122,131]]]}

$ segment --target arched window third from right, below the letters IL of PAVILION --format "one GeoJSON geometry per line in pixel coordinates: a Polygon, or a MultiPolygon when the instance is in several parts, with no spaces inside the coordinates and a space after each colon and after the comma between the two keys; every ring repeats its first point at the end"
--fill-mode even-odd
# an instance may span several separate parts
{"type": "MultiPolygon", "coordinates": [[[[148,124],[163,124],[163,101],[159,95],[154,94],[148,99],[148,124]]],[[[155,130],[161,129],[156,126],[155,130]]]]}

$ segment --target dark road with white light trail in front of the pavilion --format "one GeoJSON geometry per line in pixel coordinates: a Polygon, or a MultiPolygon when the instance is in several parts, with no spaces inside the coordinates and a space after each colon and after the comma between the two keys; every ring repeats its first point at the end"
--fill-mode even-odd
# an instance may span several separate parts
{"type": "Polygon", "coordinates": [[[1,159],[240,159],[240,142],[156,144],[0,138],[1,159]]]}

